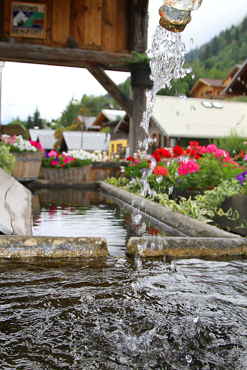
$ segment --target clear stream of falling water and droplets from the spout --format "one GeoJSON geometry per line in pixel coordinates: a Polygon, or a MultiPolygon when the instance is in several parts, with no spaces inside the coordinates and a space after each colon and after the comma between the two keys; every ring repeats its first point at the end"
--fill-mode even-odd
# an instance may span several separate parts
{"type": "MultiPolygon", "coordinates": [[[[141,157],[150,161],[149,170],[143,172],[141,179],[143,184],[141,187],[141,196],[143,197],[140,201],[141,205],[145,203],[145,197],[147,195],[153,198],[156,197],[156,192],[154,191],[154,189],[151,189],[148,184],[148,178],[152,175],[152,172],[157,166],[157,162],[154,157],[147,154],[147,151],[149,145],[153,144],[156,141],[156,139],[153,139],[150,136],[149,124],[150,118],[153,115],[153,108],[156,101],[157,92],[162,88],[170,89],[172,87],[171,80],[173,80],[174,78],[183,78],[188,73],[192,72],[191,67],[183,68],[183,64],[185,63],[185,44],[183,44],[181,41],[180,33],[173,33],[167,31],[161,26],[158,26],[155,30],[154,36],[152,37],[151,49],[147,50],[147,52],[150,54],[151,57],[151,79],[154,83],[152,89],[147,92],[147,95],[150,96],[150,100],[148,102],[147,110],[143,112],[143,120],[140,124],[141,127],[144,129],[147,138],[143,141],[138,141],[138,147],[140,149],[144,149],[144,153],[141,154],[141,157]]],[[[178,98],[178,101],[186,101],[186,95],[181,95],[181,97],[178,98]]],[[[176,112],[176,116],[179,116],[179,112],[176,112]]],[[[188,158],[179,157],[176,158],[176,160],[186,161],[188,160],[188,158]]],[[[162,181],[162,176],[157,176],[156,180],[160,184],[162,181]]],[[[168,189],[168,194],[171,194],[172,191],[173,186],[168,189]]],[[[132,213],[132,221],[135,225],[141,223],[140,206],[134,209],[132,213]]],[[[142,225],[143,228],[145,228],[145,223],[142,223],[142,225]]],[[[157,247],[158,249],[162,249],[162,238],[158,240],[157,247]]],[[[138,250],[140,253],[145,248],[147,248],[147,242],[138,244],[138,250]]],[[[155,245],[153,245],[153,248],[155,248],[155,245]]],[[[136,282],[136,284],[132,284],[132,288],[135,289],[135,286],[140,289],[138,281],[136,282]]]]}

